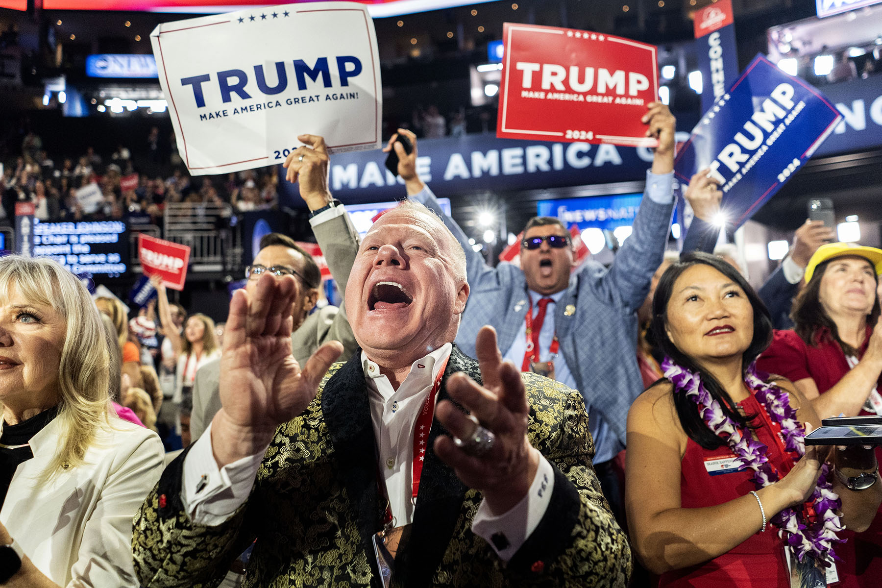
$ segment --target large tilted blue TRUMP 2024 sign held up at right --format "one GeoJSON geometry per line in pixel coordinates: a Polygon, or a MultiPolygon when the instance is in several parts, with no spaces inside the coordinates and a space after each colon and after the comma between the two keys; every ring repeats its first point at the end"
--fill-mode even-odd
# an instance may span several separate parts
{"type": "Polygon", "coordinates": [[[766,59],[753,59],[677,153],[676,176],[708,167],[722,210],[740,227],[811,158],[842,119],[817,89],[766,59]]]}

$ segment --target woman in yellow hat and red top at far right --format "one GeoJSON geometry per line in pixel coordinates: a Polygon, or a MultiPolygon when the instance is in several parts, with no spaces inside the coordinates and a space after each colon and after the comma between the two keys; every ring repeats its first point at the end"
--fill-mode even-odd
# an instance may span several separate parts
{"type": "MultiPolygon", "coordinates": [[[[775,331],[757,365],[796,385],[821,417],[882,415],[882,322],[877,275],[882,249],[848,243],[818,248],[793,305],[793,331],[775,331]]],[[[877,449],[878,458],[882,451],[877,449]]],[[[882,516],[840,533],[837,588],[882,585],[882,516]]]]}

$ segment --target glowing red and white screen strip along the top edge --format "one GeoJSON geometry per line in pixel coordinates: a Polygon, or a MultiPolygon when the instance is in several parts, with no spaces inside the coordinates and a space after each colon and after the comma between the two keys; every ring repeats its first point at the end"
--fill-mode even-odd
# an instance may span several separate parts
{"type": "MultiPolygon", "coordinates": [[[[383,18],[437,11],[442,8],[482,4],[493,0],[355,0],[368,4],[370,16],[383,18]]],[[[0,0],[0,6],[9,0],[0,0]]],[[[43,9],[56,11],[149,11],[149,12],[204,12],[219,13],[241,10],[244,7],[299,4],[318,0],[294,2],[266,2],[266,0],[43,0],[43,9]]],[[[19,4],[13,1],[12,4],[19,4]]],[[[21,0],[20,4],[26,4],[21,0]]],[[[24,9],[22,9],[24,10],[24,9]]]]}

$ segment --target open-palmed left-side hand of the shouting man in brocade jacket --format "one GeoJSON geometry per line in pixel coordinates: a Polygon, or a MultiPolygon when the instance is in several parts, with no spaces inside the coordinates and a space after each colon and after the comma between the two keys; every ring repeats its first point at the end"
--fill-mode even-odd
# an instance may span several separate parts
{"type": "Polygon", "coordinates": [[[293,276],[260,276],[253,296],[236,290],[230,301],[221,355],[221,411],[212,421],[219,466],[265,450],[275,428],[316,396],[318,383],[343,351],[325,343],[301,368],[291,354],[293,276]]]}

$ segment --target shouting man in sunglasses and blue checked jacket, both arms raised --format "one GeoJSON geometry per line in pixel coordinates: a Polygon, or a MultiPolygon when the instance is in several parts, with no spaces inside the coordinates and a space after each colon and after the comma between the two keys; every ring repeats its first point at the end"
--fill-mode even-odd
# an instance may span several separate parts
{"type": "MultiPolygon", "coordinates": [[[[591,415],[594,469],[620,521],[624,520],[622,492],[612,463],[624,449],[628,408],[643,390],[636,360],[637,309],[662,263],[674,206],[676,121],[668,107],[653,102],[642,122],[647,124],[647,137],[658,138],[659,145],[633,232],[609,269],[588,261],[572,275],[575,249],[570,234],[560,220],[550,217],[527,222],[520,267],[507,263],[490,267],[416,175],[416,148],[405,153],[395,142],[397,136],[385,147],[398,153],[398,171],[408,197],[441,215],[466,251],[472,294],[457,345],[475,356],[478,330],[490,324],[497,330],[506,360],[581,392],[591,415]]],[[[415,145],[411,131],[399,132],[415,145]]]]}

